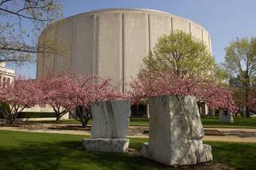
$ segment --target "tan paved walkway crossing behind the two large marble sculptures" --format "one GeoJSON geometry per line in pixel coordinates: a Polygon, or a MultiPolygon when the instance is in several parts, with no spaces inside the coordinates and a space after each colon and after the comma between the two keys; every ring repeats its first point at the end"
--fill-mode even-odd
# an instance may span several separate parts
{"type": "MultiPolygon", "coordinates": [[[[206,130],[218,130],[224,132],[224,136],[218,135],[207,135],[204,136],[202,140],[212,140],[212,141],[230,141],[230,142],[255,142],[256,143],[256,128],[205,128],[206,130]],[[250,133],[253,135],[244,135],[239,134],[250,133]]],[[[62,133],[62,134],[73,134],[73,135],[90,135],[90,132],[85,130],[64,130],[64,129],[50,129],[50,128],[41,128],[41,129],[31,129],[31,128],[20,128],[20,127],[6,127],[0,126],[0,130],[10,130],[10,131],[22,131],[22,132],[50,132],[50,133],[62,133]]],[[[128,137],[141,137],[148,138],[148,135],[134,135],[128,137]]]]}

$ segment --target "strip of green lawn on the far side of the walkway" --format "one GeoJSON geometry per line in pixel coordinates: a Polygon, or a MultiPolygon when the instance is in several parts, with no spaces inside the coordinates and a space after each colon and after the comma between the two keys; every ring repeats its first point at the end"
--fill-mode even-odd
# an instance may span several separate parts
{"type": "MultiPolygon", "coordinates": [[[[56,123],[56,121],[37,121],[40,123],[56,123]]],[[[59,121],[60,124],[80,125],[79,121],[74,119],[59,121]]],[[[89,122],[91,124],[91,121],[89,122]]],[[[130,118],[130,125],[148,126],[149,119],[146,118],[130,118]]],[[[225,124],[218,121],[218,117],[202,118],[202,125],[205,128],[256,128],[256,117],[242,118],[234,117],[233,124],[225,124]]]]}

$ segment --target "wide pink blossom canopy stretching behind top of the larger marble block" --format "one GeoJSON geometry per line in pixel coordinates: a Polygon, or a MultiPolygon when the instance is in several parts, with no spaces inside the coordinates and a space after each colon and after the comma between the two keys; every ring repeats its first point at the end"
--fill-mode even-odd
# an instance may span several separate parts
{"type": "Polygon", "coordinates": [[[193,95],[205,101],[212,108],[236,111],[231,92],[215,85],[213,81],[202,81],[197,77],[181,77],[171,70],[146,71],[142,69],[129,83],[132,101],[140,101],[147,97],[161,95],[193,95]]]}

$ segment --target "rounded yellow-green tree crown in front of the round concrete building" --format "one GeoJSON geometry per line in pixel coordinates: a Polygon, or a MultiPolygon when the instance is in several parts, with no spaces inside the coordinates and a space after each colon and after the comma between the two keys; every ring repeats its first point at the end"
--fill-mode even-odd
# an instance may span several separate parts
{"type": "Polygon", "coordinates": [[[174,31],[158,39],[154,52],[144,59],[148,70],[172,69],[180,77],[210,78],[214,57],[202,40],[183,31],[174,31]]]}

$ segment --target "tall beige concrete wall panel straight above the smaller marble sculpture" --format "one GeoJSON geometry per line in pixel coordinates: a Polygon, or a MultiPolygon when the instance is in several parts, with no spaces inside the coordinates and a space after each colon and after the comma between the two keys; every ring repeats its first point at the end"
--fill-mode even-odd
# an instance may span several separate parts
{"type": "Polygon", "coordinates": [[[122,14],[99,14],[98,18],[98,75],[121,80],[122,14]]]}

